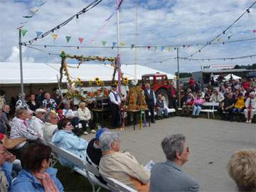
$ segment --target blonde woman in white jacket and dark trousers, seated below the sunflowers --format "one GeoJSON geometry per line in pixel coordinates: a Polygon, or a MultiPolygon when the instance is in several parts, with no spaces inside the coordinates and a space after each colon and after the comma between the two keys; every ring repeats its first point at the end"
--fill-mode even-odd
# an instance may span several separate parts
{"type": "Polygon", "coordinates": [[[82,130],[84,131],[84,134],[88,134],[88,132],[86,131],[87,124],[89,125],[91,132],[95,133],[95,130],[93,129],[95,127],[95,124],[92,122],[90,110],[86,107],[85,102],[80,102],[79,104],[78,117],[79,122],[82,124],[82,130]]]}

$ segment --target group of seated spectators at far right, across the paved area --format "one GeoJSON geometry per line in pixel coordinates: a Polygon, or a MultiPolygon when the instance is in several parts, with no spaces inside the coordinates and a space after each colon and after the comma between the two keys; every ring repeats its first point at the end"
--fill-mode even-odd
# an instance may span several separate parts
{"type": "MultiPolygon", "coordinates": [[[[251,123],[256,113],[256,79],[232,80],[231,82],[221,82],[220,87],[213,87],[209,83],[202,91],[199,82],[188,85],[181,95],[182,115],[188,117],[192,111],[192,117],[197,118],[203,109],[204,102],[218,102],[218,110],[222,119],[234,120],[235,116],[239,121],[251,123]],[[198,87],[198,88],[196,88],[198,87]],[[245,119],[245,120],[244,120],[245,119]]],[[[216,84],[214,84],[216,85],[216,84]]]]}

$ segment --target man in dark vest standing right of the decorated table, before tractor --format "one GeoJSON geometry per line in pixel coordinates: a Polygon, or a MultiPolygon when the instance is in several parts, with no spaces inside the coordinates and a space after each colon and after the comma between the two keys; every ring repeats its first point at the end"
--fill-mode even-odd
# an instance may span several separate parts
{"type": "MultiPolygon", "coordinates": [[[[150,89],[149,83],[146,83],[146,89],[144,90],[144,95],[146,99],[146,105],[148,105],[149,112],[151,114],[151,123],[154,122],[154,106],[156,105],[156,95],[154,91],[150,89]]],[[[149,117],[149,112],[146,113],[147,117],[149,117]]]]}

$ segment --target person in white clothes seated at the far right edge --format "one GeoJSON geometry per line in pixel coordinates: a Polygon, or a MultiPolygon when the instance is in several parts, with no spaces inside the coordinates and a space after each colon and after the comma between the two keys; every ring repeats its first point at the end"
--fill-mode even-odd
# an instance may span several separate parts
{"type": "Polygon", "coordinates": [[[251,123],[253,115],[256,112],[256,97],[255,92],[250,92],[250,97],[245,101],[245,119],[246,123],[251,123]]]}

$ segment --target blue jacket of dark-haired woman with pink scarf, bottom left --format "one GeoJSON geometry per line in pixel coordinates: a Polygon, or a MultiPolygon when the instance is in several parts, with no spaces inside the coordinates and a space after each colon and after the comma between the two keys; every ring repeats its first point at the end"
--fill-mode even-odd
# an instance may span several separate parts
{"type": "MultiPolygon", "coordinates": [[[[63,185],[60,183],[56,177],[57,169],[48,168],[46,173],[50,175],[50,178],[53,179],[55,185],[57,186],[60,192],[64,191],[63,185]]],[[[31,172],[26,171],[25,169],[21,170],[18,173],[16,180],[14,180],[12,192],[45,192],[45,188],[38,179],[31,174],[31,172]]]]}

